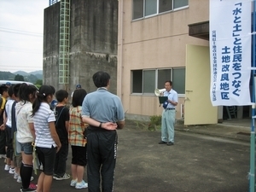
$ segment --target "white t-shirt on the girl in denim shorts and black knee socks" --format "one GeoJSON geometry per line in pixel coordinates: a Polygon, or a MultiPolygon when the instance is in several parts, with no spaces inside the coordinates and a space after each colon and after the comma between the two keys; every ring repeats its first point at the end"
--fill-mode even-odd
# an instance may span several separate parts
{"type": "Polygon", "coordinates": [[[17,141],[19,143],[32,143],[32,137],[28,123],[33,122],[32,118],[32,103],[17,102],[15,105],[16,125],[17,125],[17,141]]]}

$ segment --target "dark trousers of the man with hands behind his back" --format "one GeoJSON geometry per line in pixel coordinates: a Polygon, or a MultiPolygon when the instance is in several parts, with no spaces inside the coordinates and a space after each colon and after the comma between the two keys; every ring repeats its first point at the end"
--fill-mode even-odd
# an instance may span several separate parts
{"type": "Polygon", "coordinates": [[[102,176],[102,192],[113,191],[113,173],[116,162],[116,131],[87,131],[87,179],[88,191],[100,192],[102,176]],[[101,173],[101,175],[100,175],[101,173]]]}

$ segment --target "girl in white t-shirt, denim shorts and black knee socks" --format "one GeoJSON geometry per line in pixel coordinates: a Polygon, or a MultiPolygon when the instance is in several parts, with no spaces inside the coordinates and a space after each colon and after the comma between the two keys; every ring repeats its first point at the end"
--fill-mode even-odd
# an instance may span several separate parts
{"type": "Polygon", "coordinates": [[[22,187],[21,192],[36,191],[35,184],[30,183],[33,171],[33,147],[32,143],[35,140],[35,130],[33,127],[32,118],[32,103],[36,99],[37,88],[33,85],[20,84],[19,98],[15,106],[17,119],[17,134],[16,139],[21,147],[22,163],[20,166],[20,178],[22,187]]]}

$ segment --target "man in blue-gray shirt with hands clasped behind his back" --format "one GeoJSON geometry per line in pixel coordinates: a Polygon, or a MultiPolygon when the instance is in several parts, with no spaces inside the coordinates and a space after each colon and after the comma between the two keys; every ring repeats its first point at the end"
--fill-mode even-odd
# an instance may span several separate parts
{"type": "Polygon", "coordinates": [[[108,92],[110,76],[97,72],[92,77],[97,90],[84,97],[82,118],[87,128],[88,191],[113,191],[117,131],[125,125],[125,113],[118,96],[108,92]]]}

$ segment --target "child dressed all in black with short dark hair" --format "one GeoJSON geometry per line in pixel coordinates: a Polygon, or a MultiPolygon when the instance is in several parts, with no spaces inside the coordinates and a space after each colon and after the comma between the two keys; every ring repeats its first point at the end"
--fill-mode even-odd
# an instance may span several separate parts
{"type": "Polygon", "coordinates": [[[66,108],[68,102],[67,90],[58,90],[55,93],[58,104],[55,107],[55,127],[61,141],[61,149],[56,154],[54,176],[55,180],[64,180],[70,178],[66,173],[66,162],[68,154],[68,127],[69,127],[69,109],[66,108]]]}

